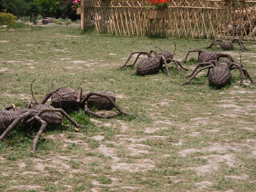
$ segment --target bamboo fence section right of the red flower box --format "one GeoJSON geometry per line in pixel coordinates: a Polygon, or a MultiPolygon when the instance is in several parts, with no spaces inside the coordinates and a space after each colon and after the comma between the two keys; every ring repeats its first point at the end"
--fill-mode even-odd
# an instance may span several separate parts
{"type": "Polygon", "coordinates": [[[255,41],[256,1],[177,1],[169,2],[173,10],[168,37],[199,39],[241,38],[255,41]],[[242,18],[242,19],[241,19],[242,18]]]}

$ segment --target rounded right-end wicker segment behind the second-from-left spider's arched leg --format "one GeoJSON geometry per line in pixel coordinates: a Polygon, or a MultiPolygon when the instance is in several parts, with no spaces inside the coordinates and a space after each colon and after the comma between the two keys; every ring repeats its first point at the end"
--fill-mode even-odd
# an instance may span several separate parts
{"type": "MultiPolygon", "coordinates": [[[[86,97],[87,94],[90,92],[83,92],[82,93],[82,97],[86,97]]],[[[116,101],[116,97],[114,95],[114,93],[109,92],[109,91],[95,91],[94,93],[101,93],[101,94],[105,94],[105,95],[109,95],[114,101],[116,101]]],[[[89,105],[94,105],[97,108],[100,109],[108,109],[112,106],[112,103],[105,97],[101,97],[98,95],[92,95],[89,99],[88,99],[88,104],[89,105]]]]}

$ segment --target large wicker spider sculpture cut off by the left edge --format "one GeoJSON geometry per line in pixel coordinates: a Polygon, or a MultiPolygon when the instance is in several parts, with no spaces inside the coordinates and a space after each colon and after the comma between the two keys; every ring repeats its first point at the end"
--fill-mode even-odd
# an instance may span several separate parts
{"type": "Polygon", "coordinates": [[[7,106],[5,110],[0,110],[0,130],[5,130],[0,136],[0,140],[3,140],[20,121],[26,126],[39,124],[40,129],[37,132],[32,145],[32,153],[34,154],[37,142],[42,133],[46,130],[46,126],[60,125],[63,116],[76,127],[79,126],[65,111],[62,109],[55,109],[50,105],[38,104],[31,107],[31,104],[29,103],[24,109],[15,108],[14,104],[7,106]],[[13,110],[10,111],[11,109],[13,110]]]}

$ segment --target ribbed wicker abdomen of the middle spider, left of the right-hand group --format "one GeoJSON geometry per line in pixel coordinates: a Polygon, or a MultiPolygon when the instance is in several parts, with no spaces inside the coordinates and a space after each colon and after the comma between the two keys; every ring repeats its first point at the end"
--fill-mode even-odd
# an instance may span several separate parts
{"type": "Polygon", "coordinates": [[[150,74],[158,73],[159,65],[160,63],[155,58],[142,59],[137,66],[137,74],[150,75],[150,74]]]}

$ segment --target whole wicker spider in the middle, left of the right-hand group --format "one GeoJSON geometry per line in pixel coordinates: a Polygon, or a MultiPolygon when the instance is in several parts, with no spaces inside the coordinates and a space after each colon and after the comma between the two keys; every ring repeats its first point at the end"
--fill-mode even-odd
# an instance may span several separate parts
{"type": "Polygon", "coordinates": [[[176,69],[177,69],[178,73],[180,72],[178,66],[180,66],[182,69],[187,70],[186,68],[184,68],[181,65],[181,63],[178,60],[174,59],[174,54],[173,53],[168,52],[168,51],[162,51],[159,54],[157,54],[157,52],[154,51],[154,50],[151,50],[150,52],[145,52],[145,51],[133,52],[127,58],[124,65],[122,67],[118,68],[117,70],[122,69],[124,67],[134,66],[140,55],[147,55],[147,58],[142,59],[138,63],[137,69],[136,69],[137,75],[151,75],[151,74],[154,74],[154,73],[158,73],[159,69],[162,68],[163,65],[164,65],[165,70],[167,72],[167,75],[170,76],[169,68],[168,68],[167,63],[170,63],[172,61],[175,63],[175,66],[176,66],[176,69]],[[155,54],[155,57],[152,56],[152,53],[155,54]],[[135,61],[133,62],[132,65],[127,65],[127,63],[129,62],[129,60],[132,58],[132,56],[134,54],[137,54],[137,56],[135,58],[135,61]]]}

